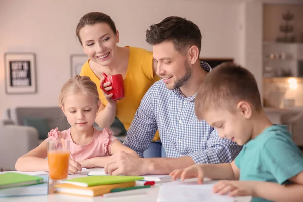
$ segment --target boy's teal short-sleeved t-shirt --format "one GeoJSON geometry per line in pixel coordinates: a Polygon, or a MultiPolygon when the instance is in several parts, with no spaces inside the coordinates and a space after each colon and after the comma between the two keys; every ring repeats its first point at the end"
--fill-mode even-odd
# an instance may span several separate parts
{"type": "MultiPolygon", "coordinates": [[[[248,141],[235,158],[240,180],[288,183],[303,171],[303,155],[286,126],[273,125],[248,141]]],[[[268,201],[253,198],[252,201],[268,201]]]]}

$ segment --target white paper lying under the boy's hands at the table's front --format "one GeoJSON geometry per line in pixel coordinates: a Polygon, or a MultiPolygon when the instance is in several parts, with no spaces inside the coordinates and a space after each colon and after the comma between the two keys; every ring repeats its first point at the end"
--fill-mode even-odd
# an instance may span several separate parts
{"type": "Polygon", "coordinates": [[[169,182],[160,186],[158,200],[167,201],[207,201],[207,202],[234,202],[233,197],[213,193],[214,182],[203,185],[197,182],[169,182]]]}

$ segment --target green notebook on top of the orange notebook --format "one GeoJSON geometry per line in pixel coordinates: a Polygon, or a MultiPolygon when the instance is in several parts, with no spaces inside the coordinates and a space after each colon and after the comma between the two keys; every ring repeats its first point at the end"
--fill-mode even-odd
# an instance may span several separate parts
{"type": "Polygon", "coordinates": [[[144,177],[140,176],[113,176],[113,175],[98,175],[98,176],[87,176],[79,177],[70,180],[63,181],[61,183],[69,183],[82,187],[106,185],[106,184],[117,184],[123,182],[132,182],[136,180],[142,180],[144,177]]]}

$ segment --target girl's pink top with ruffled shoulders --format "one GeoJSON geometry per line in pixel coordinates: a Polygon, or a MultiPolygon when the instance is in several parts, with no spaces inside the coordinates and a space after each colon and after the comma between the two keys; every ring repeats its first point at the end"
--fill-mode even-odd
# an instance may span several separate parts
{"type": "Polygon", "coordinates": [[[72,140],[70,130],[69,128],[60,132],[58,128],[52,129],[51,132],[48,133],[48,138],[45,141],[60,140],[61,138],[70,140],[70,152],[75,161],[78,162],[93,157],[111,155],[111,145],[116,138],[108,128],[102,131],[93,128],[93,137],[86,145],[75,144],[72,140]]]}

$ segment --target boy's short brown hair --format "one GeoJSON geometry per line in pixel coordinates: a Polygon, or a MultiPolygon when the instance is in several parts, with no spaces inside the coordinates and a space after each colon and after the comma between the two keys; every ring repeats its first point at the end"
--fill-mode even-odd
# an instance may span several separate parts
{"type": "Polygon", "coordinates": [[[256,111],[262,109],[254,75],[238,64],[225,62],[206,75],[195,98],[195,111],[198,119],[209,109],[234,112],[241,100],[249,102],[256,111]]]}

